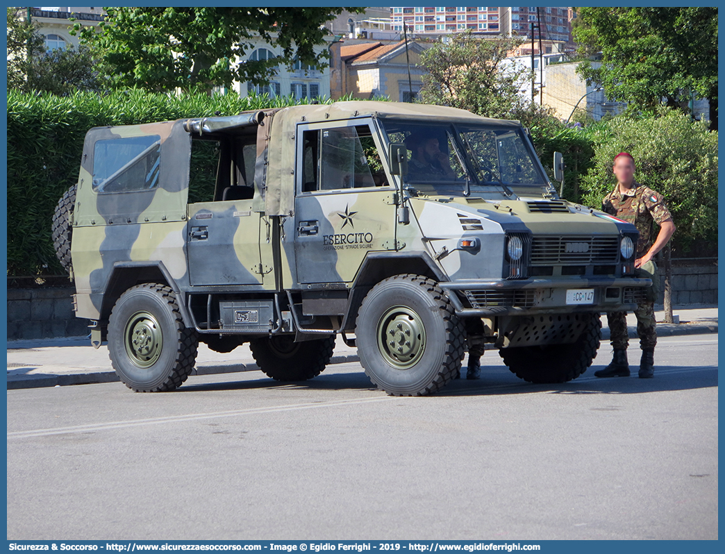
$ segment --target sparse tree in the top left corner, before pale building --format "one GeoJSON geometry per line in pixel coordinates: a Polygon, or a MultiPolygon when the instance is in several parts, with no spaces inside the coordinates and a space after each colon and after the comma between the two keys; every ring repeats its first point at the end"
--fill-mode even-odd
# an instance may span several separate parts
{"type": "Polygon", "coordinates": [[[7,8],[7,88],[28,90],[28,67],[45,53],[45,38],[22,13],[25,8],[7,8]]]}

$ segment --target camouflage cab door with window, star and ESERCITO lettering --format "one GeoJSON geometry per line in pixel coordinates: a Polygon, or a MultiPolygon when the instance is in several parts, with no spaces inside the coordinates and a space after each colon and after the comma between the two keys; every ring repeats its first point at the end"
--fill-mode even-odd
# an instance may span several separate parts
{"type": "Polygon", "coordinates": [[[355,278],[368,252],[394,249],[393,181],[369,118],[297,127],[294,254],[301,284],[355,278]]]}

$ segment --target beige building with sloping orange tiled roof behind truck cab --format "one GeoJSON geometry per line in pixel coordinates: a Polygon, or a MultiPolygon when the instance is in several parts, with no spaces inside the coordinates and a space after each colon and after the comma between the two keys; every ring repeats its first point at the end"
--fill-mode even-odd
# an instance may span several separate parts
{"type": "Polygon", "coordinates": [[[424,49],[408,41],[406,56],[405,41],[339,46],[331,58],[332,98],[352,93],[360,99],[386,96],[395,102],[410,102],[423,86],[426,70],[420,62],[424,49]]]}

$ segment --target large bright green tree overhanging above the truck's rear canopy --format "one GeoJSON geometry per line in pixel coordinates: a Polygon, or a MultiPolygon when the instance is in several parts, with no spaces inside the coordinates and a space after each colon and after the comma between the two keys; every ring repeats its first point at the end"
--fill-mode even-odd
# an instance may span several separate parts
{"type": "MultiPolygon", "coordinates": [[[[274,68],[295,59],[324,67],[323,23],[337,7],[116,7],[98,28],[80,28],[83,44],[99,48],[112,86],[149,91],[188,91],[231,86],[233,81],[267,83],[274,68]],[[249,60],[254,38],[281,46],[282,54],[249,60]]],[[[347,8],[362,12],[363,8],[347,8]]]]}

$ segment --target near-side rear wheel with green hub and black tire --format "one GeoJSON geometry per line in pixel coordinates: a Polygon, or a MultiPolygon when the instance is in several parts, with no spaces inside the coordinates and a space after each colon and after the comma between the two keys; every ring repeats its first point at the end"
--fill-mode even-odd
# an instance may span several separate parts
{"type": "Polygon", "coordinates": [[[120,380],[136,392],[181,386],[194,369],[199,334],[184,326],[174,292],[146,283],[121,294],[108,323],[108,352],[120,380]]]}

